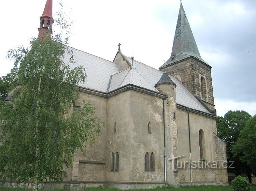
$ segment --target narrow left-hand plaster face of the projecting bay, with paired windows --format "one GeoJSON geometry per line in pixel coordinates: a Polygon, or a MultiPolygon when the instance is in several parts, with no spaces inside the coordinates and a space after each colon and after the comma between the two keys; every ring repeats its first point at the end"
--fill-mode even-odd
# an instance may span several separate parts
{"type": "Polygon", "coordinates": [[[105,180],[129,182],[130,174],[130,91],[114,95],[107,102],[105,180]],[[117,124],[114,133],[114,123],[117,124]],[[111,153],[119,153],[119,170],[111,172],[111,153]]]}

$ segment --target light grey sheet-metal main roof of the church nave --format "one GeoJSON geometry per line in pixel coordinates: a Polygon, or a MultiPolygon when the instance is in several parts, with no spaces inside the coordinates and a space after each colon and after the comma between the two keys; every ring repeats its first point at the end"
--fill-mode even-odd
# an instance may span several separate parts
{"type": "MultiPolygon", "coordinates": [[[[160,70],[134,60],[133,68],[127,68],[122,71],[118,64],[109,60],[71,47],[68,48],[74,53],[75,64],[71,65],[71,68],[83,66],[86,69],[86,82],[85,84],[80,84],[84,88],[108,93],[125,85],[132,84],[153,92],[159,92],[155,88],[155,84],[163,75],[163,72],[160,70]]],[[[131,58],[126,57],[126,59],[131,63],[131,58]]],[[[69,56],[65,55],[63,61],[68,64],[69,56]]],[[[177,104],[211,114],[179,80],[173,76],[169,77],[177,85],[177,104]]]]}

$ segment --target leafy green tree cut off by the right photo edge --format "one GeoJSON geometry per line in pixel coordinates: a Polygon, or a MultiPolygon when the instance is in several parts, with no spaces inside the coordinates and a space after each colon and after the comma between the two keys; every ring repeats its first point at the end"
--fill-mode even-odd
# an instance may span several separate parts
{"type": "Polygon", "coordinates": [[[246,162],[252,172],[256,174],[256,115],[246,122],[245,127],[239,134],[234,144],[233,153],[235,157],[246,162]]]}

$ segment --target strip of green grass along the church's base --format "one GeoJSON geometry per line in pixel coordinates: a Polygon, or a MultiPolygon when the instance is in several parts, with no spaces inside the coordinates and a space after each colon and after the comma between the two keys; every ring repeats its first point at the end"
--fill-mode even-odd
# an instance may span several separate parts
{"type": "MultiPolygon", "coordinates": [[[[222,187],[222,186],[188,186],[188,187],[180,187],[180,188],[156,188],[156,189],[140,189],[133,191],[232,191],[231,187],[222,187]]],[[[28,191],[25,189],[10,189],[10,188],[0,188],[0,191],[28,191]]],[[[63,190],[54,190],[54,191],[63,191],[63,190]]],[[[90,188],[85,191],[118,191],[118,189],[111,188],[90,188]]],[[[251,191],[256,191],[256,186],[252,186],[251,191]]]]}

